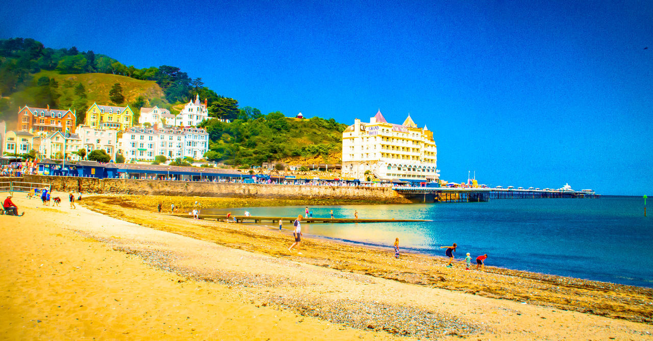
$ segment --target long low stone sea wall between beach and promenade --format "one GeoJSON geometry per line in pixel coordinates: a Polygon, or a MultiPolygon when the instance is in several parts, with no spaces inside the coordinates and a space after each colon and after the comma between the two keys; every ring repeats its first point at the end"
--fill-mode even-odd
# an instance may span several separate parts
{"type": "Polygon", "coordinates": [[[52,185],[52,190],[63,192],[233,198],[321,198],[332,200],[364,200],[379,203],[410,202],[387,187],[259,185],[138,179],[95,179],[90,177],[58,177],[50,175],[25,175],[23,178],[24,181],[30,183],[49,183],[52,185]]]}

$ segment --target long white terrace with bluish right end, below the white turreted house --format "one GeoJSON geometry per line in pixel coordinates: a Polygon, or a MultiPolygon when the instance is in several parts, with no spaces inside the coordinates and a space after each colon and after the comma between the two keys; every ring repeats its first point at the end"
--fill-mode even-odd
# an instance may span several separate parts
{"type": "Polygon", "coordinates": [[[168,159],[190,156],[200,159],[208,151],[208,133],[204,128],[143,128],[133,126],[122,137],[125,160],[152,161],[157,155],[168,159]]]}

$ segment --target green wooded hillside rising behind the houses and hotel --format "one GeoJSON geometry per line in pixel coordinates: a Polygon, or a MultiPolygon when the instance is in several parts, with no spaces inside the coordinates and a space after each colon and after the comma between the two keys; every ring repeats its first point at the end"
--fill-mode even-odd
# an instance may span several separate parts
{"type": "Polygon", "coordinates": [[[342,131],[334,119],[288,118],[279,111],[263,115],[257,108],[238,106],[178,67],[135,68],[93,51],[46,48],[31,38],[0,40],[0,121],[13,126],[21,106],[76,111],[84,121],[88,107],[129,104],[178,113],[183,103],[199,95],[208,101],[210,119],[202,123],[210,134],[208,160],[236,166],[282,160],[291,164],[338,163],[342,131]],[[231,123],[226,123],[229,120],[231,123]]]}

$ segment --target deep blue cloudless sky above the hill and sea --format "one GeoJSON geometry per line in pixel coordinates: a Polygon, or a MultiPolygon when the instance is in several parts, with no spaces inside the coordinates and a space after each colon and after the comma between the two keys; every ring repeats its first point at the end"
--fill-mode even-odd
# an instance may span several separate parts
{"type": "Polygon", "coordinates": [[[653,194],[652,1],[3,7],[0,38],[173,65],[264,113],[410,113],[449,181],[653,194]]]}

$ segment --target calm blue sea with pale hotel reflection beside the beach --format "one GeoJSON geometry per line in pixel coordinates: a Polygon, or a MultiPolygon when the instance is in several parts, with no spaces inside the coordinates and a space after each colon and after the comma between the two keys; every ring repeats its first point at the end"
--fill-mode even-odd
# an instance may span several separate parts
{"type": "MultiPolygon", "coordinates": [[[[309,207],[313,216],[409,218],[432,222],[302,224],[302,232],[348,243],[387,246],[456,258],[488,254],[487,265],[653,288],[653,203],[644,216],[641,197],[491,200],[309,207]]],[[[246,209],[231,209],[243,215],[246,209]]],[[[213,211],[213,210],[211,210],[213,211]]],[[[216,210],[214,212],[223,212],[216,210]]],[[[251,207],[255,216],[296,216],[304,207],[251,207]]],[[[203,213],[209,213],[204,210],[203,213]]],[[[274,224],[270,224],[272,226],[274,224]]],[[[278,226],[278,225],[277,225],[278,226]]],[[[287,224],[285,228],[291,228],[287,224]]]]}

